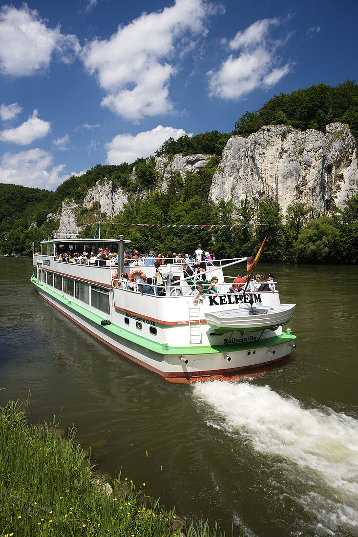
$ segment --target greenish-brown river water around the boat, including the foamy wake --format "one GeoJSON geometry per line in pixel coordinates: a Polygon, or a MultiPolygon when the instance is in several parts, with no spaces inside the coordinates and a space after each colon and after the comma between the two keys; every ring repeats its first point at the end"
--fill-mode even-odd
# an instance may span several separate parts
{"type": "Polygon", "coordinates": [[[49,306],[30,259],[0,259],[1,402],[30,390],[31,422],[74,424],[102,471],[121,468],[167,509],[217,520],[227,535],[358,535],[356,267],[259,269],[274,274],[282,303],[297,303],[292,360],[188,386],[49,306]]]}

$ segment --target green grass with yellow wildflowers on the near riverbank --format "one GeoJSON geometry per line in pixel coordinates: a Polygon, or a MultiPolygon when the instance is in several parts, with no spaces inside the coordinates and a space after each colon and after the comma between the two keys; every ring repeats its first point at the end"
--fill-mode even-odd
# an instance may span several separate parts
{"type": "MultiPolygon", "coordinates": [[[[108,481],[108,480],[107,480],[108,481]]],[[[0,407],[0,535],[113,535],[116,537],[218,536],[207,524],[190,526],[165,512],[130,480],[112,489],[95,473],[75,431],[63,439],[56,425],[27,424],[11,402],[0,407]]]]}

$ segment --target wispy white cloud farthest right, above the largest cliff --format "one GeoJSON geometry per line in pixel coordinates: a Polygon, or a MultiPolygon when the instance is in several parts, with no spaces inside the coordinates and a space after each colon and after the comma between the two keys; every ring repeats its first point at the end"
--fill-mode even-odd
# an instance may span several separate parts
{"type": "Polygon", "coordinates": [[[262,86],[268,88],[287,75],[292,65],[281,66],[277,50],[284,41],[271,37],[277,18],[257,20],[229,42],[233,51],[218,70],[211,70],[209,89],[211,97],[238,99],[262,86]]]}

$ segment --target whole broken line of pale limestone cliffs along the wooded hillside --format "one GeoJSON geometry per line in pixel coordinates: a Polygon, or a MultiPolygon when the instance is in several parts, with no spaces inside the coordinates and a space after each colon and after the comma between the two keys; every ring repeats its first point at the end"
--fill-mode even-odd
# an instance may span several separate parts
{"type": "MultiPolygon", "coordinates": [[[[128,193],[113,188],[108,179],[90,188],[83,204],[62,202],[60,231],[75,233],[100,217],[110,219],[131,200],[145,199],[154,190],[165,192],[172,172],[185,178],[201,169],[212,155],[162,155],[155,158],[157,183],[128,193]],[[88,213],[86,213],[88,211],[88,213]]],[[[132,172],[135,179],[135,170],[132,172]]],[[[343,207],[350,189],[358,184],[357,148],[349,127],[327,125],[326,133],[301,131],[284,125],[263,127],[248,137],[232,136],[214,174],[209,201],[278,201],[283,214],[288,205],[302,202],[313,214],[330,214],[343,207]]]]}

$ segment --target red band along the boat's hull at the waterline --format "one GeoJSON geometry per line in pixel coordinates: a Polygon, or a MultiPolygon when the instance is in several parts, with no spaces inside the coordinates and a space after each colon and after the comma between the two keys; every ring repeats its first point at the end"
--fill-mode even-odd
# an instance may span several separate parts
{"type": "Polygon", "coordinates": [[[46,300],[46,302],[51,304],[51,306],[55,307],[58,311],[60,311],[60,313],[65,315],[70,321],[73,321],[78,326],[80,326],[83,330],[88,332],[90,336],[95,337],[100,342],[104,343],[104,345],[110,347],[113,351],[116,351],[118,354],[121,354],[125,358],[128,358],[128,360],[135,362],[135,364],[138,364],[141,367],[145,367],[146,369],[149,369],[149,371],[151,371],[152,373],[156,373],[157,375],[160,375],[163,379],[167,380],[168,382],[190,384],[192,382],[205,382],[208,380],[235,380],[235,379],[244,378],[245,376],[262,375],[264,373],[267,373],[268,371],[271,371],[271,369],[276,365],[277,362],[290,361],[290,354],[287,354],[283,356],[282,358],[276,358],[275,360],[271,360],[270,362],[264,362],[263,364],[234,367],[232,369],[213,369],[213,370],[207,370],[207,371],[191,371],[191,372],[178,371],[178,372],[173,372],[173,373],[160,371],[160,369],[156,369],[155,367],[149,364],[145,364],[145,362],[139,360],[138,358],[135,358],[131,354],[128,354],[125,351],[119,350],[115,345],[105,340],[101,336],[98,336],[96,333],[92,332],[86,326],[83,326],[83,324],[76,321],[73,317],[71,317],[71,315],[69,315],[68,313],[66,313],[66,311],[56,306],[56,304],[51,302],[51,300],[48,300],[46,296],[41,294],[39,291],[38,293],[40,294],[40,296],[42,296],[44,300],[46,300]],[[253,369],[255,370],[254,372],[253,372],[253,369]]]}

